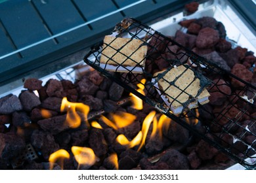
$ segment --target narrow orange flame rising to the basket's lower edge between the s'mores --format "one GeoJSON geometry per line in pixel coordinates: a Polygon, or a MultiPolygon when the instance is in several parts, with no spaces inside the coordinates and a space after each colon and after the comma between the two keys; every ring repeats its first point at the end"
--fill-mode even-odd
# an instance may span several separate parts
{"type": "MultiPolygon", "coordinates": [[[[142,79],[140,81],[139,84],[137,84],[138,86],[138,90],[137,92],[141,93],[142,95],[145,95],[145,92],[143,91],[144,90],[144,84],[146,83],[146,79],[142,79]]],[[[141,110],[143,108],[143,102],[142,102],[142,99],[140,99],[139,97],[137,97],[137,95],[134,95],[133,93],[130,93],[131,95],[131,101],[133,103],[132,107],[137,109],[137,110],[141,110]]]]}

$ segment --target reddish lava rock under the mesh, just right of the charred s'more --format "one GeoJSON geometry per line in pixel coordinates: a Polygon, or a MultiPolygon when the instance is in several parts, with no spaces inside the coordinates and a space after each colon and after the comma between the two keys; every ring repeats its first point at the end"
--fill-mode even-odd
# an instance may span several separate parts
{"type": "Polygon", "coordinates": [[[223,79],[213,80],[213,87],[209,90],[209,101],[211,105],[223,105],[226,95],[231,94],[231,89],[223,79]]]}

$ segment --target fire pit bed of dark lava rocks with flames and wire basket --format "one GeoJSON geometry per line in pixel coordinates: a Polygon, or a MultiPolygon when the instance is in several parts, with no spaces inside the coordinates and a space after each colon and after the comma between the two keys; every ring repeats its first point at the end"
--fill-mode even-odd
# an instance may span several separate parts
{"type": "Polygon", "coordinates": [[[125,21],[116,26],[118,37],[147,47],[146,59],[140,59],[144,65],[137,61],[142,72],[100,67],[100,42],[85,56],[95,69],[86,65],[74,82],[52,78],[42,86],[41,80],[27,79],[18,97],[0,99],[0,169],[226,169],[236,162],[255,169],[253,53],[231,48],[223,25],[213,18],[184,20],[179,24],[186,28],[173,37],[125,21]],[[204,43],[215,29],[218,41],[204,43]],[[193,73],[181,90],[188,95],[185,103],[156,86],[164,76],[156,73],[181,65],[179,78],[193,73]],[[209,92],[209,102],[189,107],[200,100],[186,91],[196,79],[198,90],[209,92]],[[180,112],[166,96],[180,103],[180,112]]]}

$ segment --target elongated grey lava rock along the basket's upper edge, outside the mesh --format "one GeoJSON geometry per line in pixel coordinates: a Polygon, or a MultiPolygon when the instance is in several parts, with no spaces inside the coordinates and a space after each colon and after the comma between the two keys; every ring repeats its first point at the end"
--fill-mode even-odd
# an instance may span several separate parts
{"type": "Polygon", "coordinates": [[[228,64],[226,63],[226,61],[221,58],[221,56],[219,56],[219,54],[217,52],[211,52],[209,54],[205,54],[203,55],[204,58],[206,58],[209,61],[212,61],[213,63],[217,64],[219,67],[221,67],[222,69],[230,72],[231,69],[228,66],[228,64]]]}

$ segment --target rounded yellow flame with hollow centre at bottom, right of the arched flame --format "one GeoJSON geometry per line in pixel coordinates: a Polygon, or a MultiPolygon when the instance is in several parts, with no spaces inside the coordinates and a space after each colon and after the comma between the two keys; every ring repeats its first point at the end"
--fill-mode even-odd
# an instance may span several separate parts
{"type": "Polygon", "coordinates": [[[95,156],[95,152],[91,148],[72,146],[72,153],[74,154],[75,161],[78,165],[87,165],[91,167],[94,165],[98,158],[95,156]]]}

